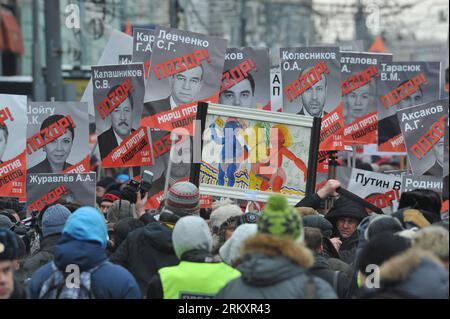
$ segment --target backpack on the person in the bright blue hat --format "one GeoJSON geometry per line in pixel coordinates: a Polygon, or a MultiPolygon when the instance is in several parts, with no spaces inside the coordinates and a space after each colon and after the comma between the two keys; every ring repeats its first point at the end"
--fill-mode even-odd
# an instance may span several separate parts
{"type": "Polygon", "coordinates": [[[67,274],[59,270],[55,263],[51,263],[53,273],[44,282],[39,292],[39,299],[95,299],[94,292],[92,291],[92,274],[107,264],[105,261],[96,267],[80,273],[79,288],[69,288],[66,285],[67,274]]]}

